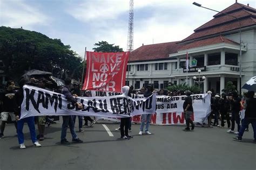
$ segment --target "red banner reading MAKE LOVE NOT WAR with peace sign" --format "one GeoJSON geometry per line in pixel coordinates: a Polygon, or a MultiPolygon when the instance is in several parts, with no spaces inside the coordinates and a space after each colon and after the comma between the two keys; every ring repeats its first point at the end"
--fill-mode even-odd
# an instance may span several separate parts
{"type": "Polygon", "coordinates": [[[86,52],[86,76],[83,90],[122,92],[130,52],[86,52]]]}

